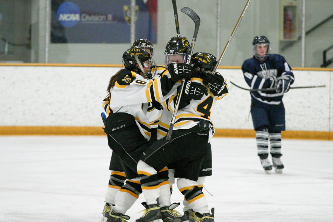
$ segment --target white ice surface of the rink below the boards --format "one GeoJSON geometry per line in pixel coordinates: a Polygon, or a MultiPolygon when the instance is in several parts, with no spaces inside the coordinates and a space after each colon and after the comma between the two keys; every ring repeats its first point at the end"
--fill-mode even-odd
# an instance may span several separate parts
{"type": "MultiPolygon", "coordinates": [[[[204,189],[215,221],[332,222],[333,141],[282,139],[265,174],[254,138],[213,138],[204,189]]],[[[0,136],[0,222],[99,222],[110,177],[105,136],[0,136]]],[[[173,187],[172,202],[182,202],[173,187]]],[[[141,195],[127,212],[142,215],[141,195]]],[[[177,207],[182,213],[182,206],[177,207]]]]}

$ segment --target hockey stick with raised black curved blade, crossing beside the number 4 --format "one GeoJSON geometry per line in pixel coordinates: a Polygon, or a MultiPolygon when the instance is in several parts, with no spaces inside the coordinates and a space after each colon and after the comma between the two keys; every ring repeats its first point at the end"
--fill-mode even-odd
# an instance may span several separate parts
{"type": "MultiPolygon", "coordinates": [[[[190,51],[189,51],[188,56],[187,56],[187,61],[186,61],[186,64],[189,64],[189,62],[191,60],[191,55],[193,53],[195,40],[196,40],[196,37],[198,35],[198,31],[199,31],[200,18],[199,18],[199,16],[192,9],[190,9],[188,7],[184,7],[180,11],[183,12],[183,13],[185,13],[186,15],[188,15],[193,20],[193,22],[194,22],[193,39],[192,39],[190,51]]],[[[185,79],[182,79],[181,80],[181,84],[180,84],[180,90],[178,92],[176,104],[175,104],[175,107],[174,107],[174,111],[172,113],[170,127],[169,127],[169,130],[168,130],[167,135],[166,135],[166,140],[167,141],[171,140],[172,129],[173,129],[174,122],[176,120],[176,114],[177,114],[179,103],[180,103],[180,97],[181,97],[181,94],[182,94],[183,89],[184,89],[184,82],[185,82],[185,79]]]]}

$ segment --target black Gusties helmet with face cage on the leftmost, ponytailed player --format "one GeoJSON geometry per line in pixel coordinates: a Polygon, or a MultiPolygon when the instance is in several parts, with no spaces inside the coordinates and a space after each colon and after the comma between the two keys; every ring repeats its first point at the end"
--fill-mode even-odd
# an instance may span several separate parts
{"type": "Polygon", "coordinates": [[[148,51],[141,48],[131,48],[124,52],[123,63],[129,70],[141,70],[147,79],[156,74],[156,64],[148,51]]]}

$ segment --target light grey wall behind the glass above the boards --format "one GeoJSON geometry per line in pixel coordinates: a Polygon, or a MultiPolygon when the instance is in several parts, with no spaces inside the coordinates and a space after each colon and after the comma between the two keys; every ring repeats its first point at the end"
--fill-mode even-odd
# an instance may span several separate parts
{"type": "MultiPolygon", "coordinates": [[[[246,0],[221,0],[220,53],[224,49],[245,3],[246,0]]],[[[203,51],[216,55],[217,1],[177,1],[180,33],[191,40],[194,23],[187,15],[180,12],[180,9],[184,6],[193,9],[201,18],[194,51],[203,51]]],[[[32,8],[33,22],[39,24],[38,33],[34,37],[38,45],[34,47],[32,53],[34,55],[31,56],[32,62],[44,62],[45,22],[43,21],[45,21],[45,1],[33,0],[32,8]],[[38,13],[38,16],[36,16],[36,13],[38,13]],[[34,19],[36,17],[38,21],[34,19]]],[[[301,8],[302,1],[298,0],[299,35],[301,34],[301,8]]],[[[333,14],[332,9],[332,0],[306,0],[306,30],[309,30],[333,14]]],[[[169,0],[159,0],[158,43],[154,44],[157,64],[164,63],[163,52],[165,45],[175,35],[172,3],[169,0]]],[[[300,41],[295,43],[293,47],[280,52],[280,48],[285,42],[279,41],[279,1],[267,0],[250,2],[220,65],[240,66],[245,59],[252,57],[250,44],[256,35],[267,36],[271,42],[272,53],[284,55],[292,67],[301,66],[300,41]]],[[[332,44],[333,20],[306,37],[305,67],[320,67],[322,63],[322,51],[332,44]]],[[[50,44],[49,62],[121,64],[123,52],[130,47],[130,44],[50,44]]]]}

